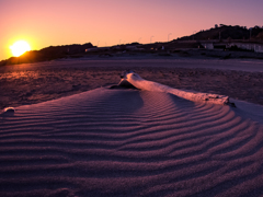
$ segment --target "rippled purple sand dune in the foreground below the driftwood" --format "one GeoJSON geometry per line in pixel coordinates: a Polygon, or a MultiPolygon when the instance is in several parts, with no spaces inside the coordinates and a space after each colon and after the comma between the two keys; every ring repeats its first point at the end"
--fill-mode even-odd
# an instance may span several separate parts
{"type": "Polygon", "coordinates": [[[0,118],[0,196],[263,194],[262,125],[229,106],[98,89],[0,118]]]}

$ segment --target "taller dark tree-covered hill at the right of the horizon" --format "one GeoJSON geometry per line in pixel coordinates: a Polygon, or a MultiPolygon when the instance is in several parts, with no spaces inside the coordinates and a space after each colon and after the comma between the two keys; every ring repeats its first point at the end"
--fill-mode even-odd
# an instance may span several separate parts
{"type": "Polygon", "coordinates": [[[245,26],[215,25],[207,31],[199,31],[196,34],[178,38],[178,40],[206,40],[206,39],[263,39],[263,27],[254,26],[251,30],[245,26]]]}

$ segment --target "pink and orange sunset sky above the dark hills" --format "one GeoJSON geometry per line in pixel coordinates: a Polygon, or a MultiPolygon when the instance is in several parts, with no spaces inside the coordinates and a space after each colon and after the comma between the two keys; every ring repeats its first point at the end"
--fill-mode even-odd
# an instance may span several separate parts
{"type": "Polygon", "coordinates": [[[263,26],[262,8],[263,0],[0,0],[0,60],[20,39],[38,50],[165,42],[215,24],[263,26]]]}

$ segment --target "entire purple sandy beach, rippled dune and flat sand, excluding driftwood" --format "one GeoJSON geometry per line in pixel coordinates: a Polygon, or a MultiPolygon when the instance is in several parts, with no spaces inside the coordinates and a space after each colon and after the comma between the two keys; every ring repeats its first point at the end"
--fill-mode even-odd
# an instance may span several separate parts
{"type": "Polygon", "coordinates": [[[0,196],[263,195],[262,61],[60,60],[0,84],[0,196]],[[237,107],[111,89],[126,69],[237,107]]]}

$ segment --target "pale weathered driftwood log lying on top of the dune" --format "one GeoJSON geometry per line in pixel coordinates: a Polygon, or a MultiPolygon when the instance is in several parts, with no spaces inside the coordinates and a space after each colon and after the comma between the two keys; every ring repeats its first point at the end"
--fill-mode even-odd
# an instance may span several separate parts
{"type": "Polygon", "coordinates": [[[206,102],[220,105],[230,105],[235,106],[233,103],[229,102],[229,96],[219,95],[219,94],[209,94],[209,93],[199,93],[199,92],[187,92],[183,90],[173,89],[168,85],[163,85],[157,82],[148,81],[139,77],[132,70],[125,71],[121,76],[122,81],[118,85],[125,86],[128,83],[140,90],[156,91],[156,92],[165,92],[174,94],[179,97],[190,100],[193,102],[206,102]]]}

